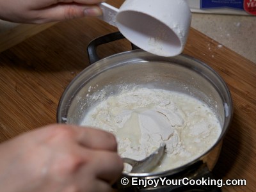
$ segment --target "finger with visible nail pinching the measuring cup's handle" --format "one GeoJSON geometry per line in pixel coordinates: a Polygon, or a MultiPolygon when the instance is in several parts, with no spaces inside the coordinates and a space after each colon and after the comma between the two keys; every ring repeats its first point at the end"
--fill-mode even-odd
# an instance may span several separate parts
{"type": "Polygon", "coordinates": [[[84,5],[84,4],[55,4],[48,8],[38,10],[39,19],[38,23],[70,20],[79,17],[98,17],[102,15],[102,10],[97,5],[84,5]]]}

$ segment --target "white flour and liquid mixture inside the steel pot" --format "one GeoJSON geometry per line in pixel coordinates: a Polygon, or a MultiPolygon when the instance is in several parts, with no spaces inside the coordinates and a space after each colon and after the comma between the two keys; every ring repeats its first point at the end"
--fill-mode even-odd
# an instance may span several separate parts
{"type": "Polygon", "coordinates": [[[148,88],[108,97],[89,111],[81,125],[112,132],[120,156],[136,160],[166,143],[166,154],[154,172],[193,161],[214,145],[221,132],[214,113],[199,100],[148,88]]]}

